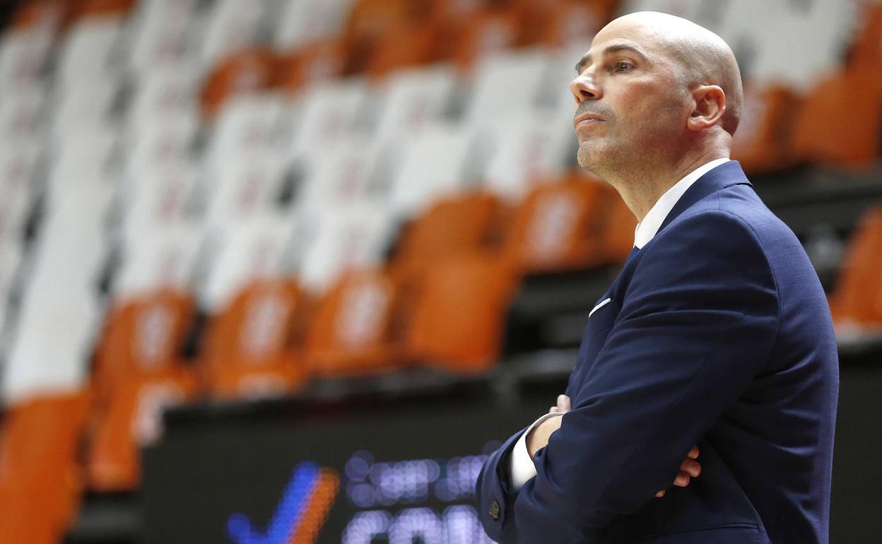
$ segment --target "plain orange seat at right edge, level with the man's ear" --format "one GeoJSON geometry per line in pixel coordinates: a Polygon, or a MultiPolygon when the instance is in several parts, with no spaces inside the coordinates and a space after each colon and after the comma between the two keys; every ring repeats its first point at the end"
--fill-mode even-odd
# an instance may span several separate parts
{"type": "Polygon", "coordinates": [[[796,116],[793,150],[801,160],[865,168],[878,158],[882,74],[864,68],[824,78],[796,116]],[[861,104],[855,115],[856,97],[861,104]]]}

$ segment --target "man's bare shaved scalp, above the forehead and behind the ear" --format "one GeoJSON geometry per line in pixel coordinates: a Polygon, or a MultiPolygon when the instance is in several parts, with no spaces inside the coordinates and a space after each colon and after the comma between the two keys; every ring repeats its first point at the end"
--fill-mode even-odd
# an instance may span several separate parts
{"type": "Polygon", "coordinates": [[[639,11],[614,19],[597,33],[614,33],[626,28],[647,36],[679,67],[684,86],[720,86],[726,95],[721,127],[735,134],[744,103],[741,72],[735,54],[726,41],[690,20],[657,11],[639,11]]]}

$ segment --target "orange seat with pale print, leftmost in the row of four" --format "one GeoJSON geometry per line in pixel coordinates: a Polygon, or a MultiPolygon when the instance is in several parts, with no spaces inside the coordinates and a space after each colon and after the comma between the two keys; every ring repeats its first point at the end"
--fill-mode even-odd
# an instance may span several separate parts
{"type": "Polygon", "coordinates": [[[175,367],[194,317],[190,295],[176,290],[139,296],[112,309],[93,370],[99,406],[132,377],[175,367]]]}

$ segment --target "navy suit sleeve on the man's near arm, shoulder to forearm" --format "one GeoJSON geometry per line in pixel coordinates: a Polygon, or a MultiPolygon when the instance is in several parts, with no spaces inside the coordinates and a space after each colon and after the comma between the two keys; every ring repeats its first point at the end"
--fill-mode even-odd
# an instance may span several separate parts
{"type": "Polygon", "coordinates": [[[751,227],[706,212],[644,251],[572,411],[534,457],[536,477],[506,497],[500,518],[519,544],[599,541],[658,500],[766,364],[778,296],[751,227]]]}

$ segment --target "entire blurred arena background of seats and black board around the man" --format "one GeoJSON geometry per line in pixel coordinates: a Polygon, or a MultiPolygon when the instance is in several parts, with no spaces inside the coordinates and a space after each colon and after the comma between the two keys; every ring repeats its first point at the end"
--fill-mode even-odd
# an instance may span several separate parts
{"type": "Polygon", "coordinates": [[[632,247],[568,84],[643,10],[736,51],[837,327],[831,541],[878,541],[882,4],[7,0],[0,542],[489,542],[632,247]]]}

